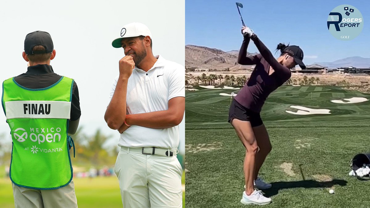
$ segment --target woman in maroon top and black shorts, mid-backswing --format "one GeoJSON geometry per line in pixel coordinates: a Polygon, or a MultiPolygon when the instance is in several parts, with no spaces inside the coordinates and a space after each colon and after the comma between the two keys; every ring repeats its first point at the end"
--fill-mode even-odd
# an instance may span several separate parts
{"type": "Polygon", "coordinates": [[[305,65],[302,62],[303,51],[298,46],[285,46],[280,43],[277,49],[281,51],[281,55],[276,60],[256,34],[253,34],[253,30],[243,26],[242,34],[244,40],[239,51],[238,63],[255,64],[256,67],[248,83],[231,103],[229,123],[235,128],[236,134],[246,148],[243,165],[245,191],[240,202],[263,205],[269,204],[271,198],[263,196],[261,191],[255,190],[255,187],[267,189],[272,186],[258,178],[259,169],[271,151],[271,143],[262,123],[260,111],[268,95],[290,78],[289,69],[296,64],[301,68],[305,68],[305,65]],[[253,40],[260,54],[246,56],[250,39],[253,40]]]}

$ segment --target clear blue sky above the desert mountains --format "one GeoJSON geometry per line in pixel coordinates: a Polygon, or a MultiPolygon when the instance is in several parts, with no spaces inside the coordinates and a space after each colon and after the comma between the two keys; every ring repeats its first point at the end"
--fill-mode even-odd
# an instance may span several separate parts
{"type": "MultiPolygon", "coordinates": [[[[244,23],[255,31],[270,50],[275,50],[279,43],[298,45],[303,49],[303,61],[306,64],[350,56],[370,58],[370,1],[238,1],[243,4],[240,13],[244,23]],[[348,3],[360,10],[364,27],[353,40],[342,41],[330,34],[327,18],[335,7],[348,3]]],[[[235,1],[186,0],[185,16],[185,44],[223,51],[240,49],[242,22],[235,1]]],[[[252,43],[248,51],[258,50],[252,43]]]]}

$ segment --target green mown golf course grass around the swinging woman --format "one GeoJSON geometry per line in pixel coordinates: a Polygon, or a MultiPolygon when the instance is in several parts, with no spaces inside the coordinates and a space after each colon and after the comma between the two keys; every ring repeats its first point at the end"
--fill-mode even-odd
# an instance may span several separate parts
{"type": "MultiPolygon", "coordinates": [[[[245,148],[227,123],[230,97],[219,95],[231,92],[238,90],[186,92],[186,208],[246,207],[240,203],[245,148]]],[[[370,182],[348,175],[351,158],[370,152],[370,101],[330,102],[351,97],[370,100],[370,94],[330,86],[282,86],[269,96],[261,112],[272,143],[260,170],[273,185],[263,190],[272,198],[266,207],[370,207],[370,182]],[[292,115],[285,112],[296,111],[290,105],[332,114],[292,115]],[[294,175],[283,171],[284,163],[294,175]]]]}

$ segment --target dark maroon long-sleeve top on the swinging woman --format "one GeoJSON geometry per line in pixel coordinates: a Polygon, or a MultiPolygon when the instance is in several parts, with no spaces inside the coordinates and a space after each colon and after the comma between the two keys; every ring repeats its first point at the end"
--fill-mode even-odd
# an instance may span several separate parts
{"type": "Polygon", "coordinates": [[[247,84],[235,96],[235,100],[238,103],[256,113],[261,111],[269,94],[285,83],[291,76],[289,68],[277,62],[269,49],[255,34],[250,38],[244,38],[239,51],[238,63],[242,65],[256,64],[247,84]],[[256,44],[260,54],[246,56],[250,39],[256,44]],[[270,66],[275,71],[269,76],[270,66]]]}

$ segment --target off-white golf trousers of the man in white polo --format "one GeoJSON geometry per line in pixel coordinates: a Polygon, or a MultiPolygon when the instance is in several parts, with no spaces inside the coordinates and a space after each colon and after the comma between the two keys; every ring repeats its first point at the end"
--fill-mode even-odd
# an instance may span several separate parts
{"type": "Polygon", "coordinates": [[[176,157],[121,149],[114,172],[124,208],[182,207],[182,168],[176,157]]]}

